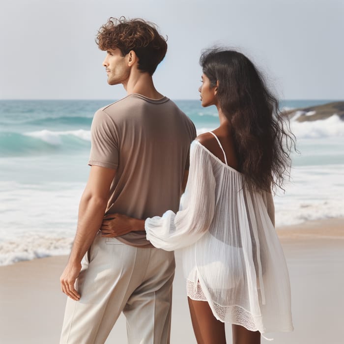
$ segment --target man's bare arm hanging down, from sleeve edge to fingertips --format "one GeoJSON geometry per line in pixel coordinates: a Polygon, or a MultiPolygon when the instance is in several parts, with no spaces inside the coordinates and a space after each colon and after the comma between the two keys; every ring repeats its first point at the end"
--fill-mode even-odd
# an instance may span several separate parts
{"type": "Polygon", "coordinates": [[[91,166],[86,188],[79,204],[78,227],[72,251],[60,277],[62,291],[73,300],[80,298],[80,294],[74,288],[74,283],[81,270],[81,260],[101,227],[115,172],[113,169],[91,166]]]}

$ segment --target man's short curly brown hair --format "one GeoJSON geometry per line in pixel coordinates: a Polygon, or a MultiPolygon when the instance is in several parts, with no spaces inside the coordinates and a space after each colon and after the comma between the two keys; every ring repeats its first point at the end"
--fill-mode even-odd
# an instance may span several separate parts
{"type": "Polygon", "coordinates": [[[138,68],[153,75],[167,51],[167,43],[154,23],[143,19],[111,17],[99,30],[96,43],[100,50],[118,48],[122,56],[131,50],[139,58],[138,68]]]}

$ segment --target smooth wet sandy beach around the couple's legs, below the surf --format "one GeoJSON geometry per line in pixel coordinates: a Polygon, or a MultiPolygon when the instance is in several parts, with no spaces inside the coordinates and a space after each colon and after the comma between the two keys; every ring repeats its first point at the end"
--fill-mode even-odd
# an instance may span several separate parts
{"type": "MultiPolygon", "coordinates": [[[[312,221],[277,232],[287,258],[295,329],[267,337],[276,344],[343,343],[344,219],[312,221]]],[[[49,257],[0,267],[1,344],[58,343],[66,300],[59,276],[66,260],[49,257]]],[[[178,252],[176,264],[171,343],[194,344],[178,252]]],[[[106,343],[127,343],[123,315],[106,343]]]]}

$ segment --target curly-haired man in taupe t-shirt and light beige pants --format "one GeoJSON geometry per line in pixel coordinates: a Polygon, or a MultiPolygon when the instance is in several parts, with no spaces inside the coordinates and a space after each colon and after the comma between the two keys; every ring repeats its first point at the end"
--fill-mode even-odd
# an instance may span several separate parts
{"type": "Polygon", "coordinates": [[[121,312],[129,343],[169,343],[173,253],[154,248],[144,231],[106,238],[99,229],[105,213],[145,219],[178,210],[196,130],[154,87],[167,44],[153,24],[110,18],[96,42],[107,52],[108,84],[122,84],[127,96],[93,118],[90,174],[60,278],[69,296],[60,343],[104,343],[121,312]]]}

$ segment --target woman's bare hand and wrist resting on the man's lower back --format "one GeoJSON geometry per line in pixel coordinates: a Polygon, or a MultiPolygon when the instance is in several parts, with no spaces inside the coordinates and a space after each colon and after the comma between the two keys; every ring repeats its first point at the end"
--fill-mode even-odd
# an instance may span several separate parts
{"type": "Polygon", "coordinates": [[[102,236],[107,237],[116,237],[138,230],[144,230],[144,220],[123,214],[105,215],[100,228],[102,236]]]}

